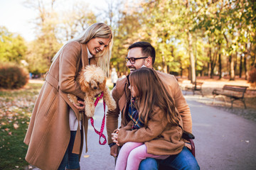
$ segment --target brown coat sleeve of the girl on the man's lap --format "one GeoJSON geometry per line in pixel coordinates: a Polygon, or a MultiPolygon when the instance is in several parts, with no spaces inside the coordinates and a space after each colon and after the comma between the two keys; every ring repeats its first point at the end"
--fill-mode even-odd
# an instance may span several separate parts
{"type": "Polygon", "coordinates": [[[139,130],[125,130],[121,128],[118,132],[117,141],[120,145],[126,142],[147,142],[155,139],[165,130],[167,120],[161,111],[154,112],[154,116],[149,120],[148,125],[139,130]]]}

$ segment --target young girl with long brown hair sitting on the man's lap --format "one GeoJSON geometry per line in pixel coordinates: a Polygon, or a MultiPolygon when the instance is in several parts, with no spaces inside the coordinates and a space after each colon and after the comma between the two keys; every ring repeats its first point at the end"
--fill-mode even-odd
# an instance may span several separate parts
{"type": "Polygon", "coordinates": [[[129,124],[112,133],[123,145],[115,169],[139,169],[147,157],[166,159],[181,152],[182,120],[156,71],[143,67],[129,76],[132,101],[129,124]]]}

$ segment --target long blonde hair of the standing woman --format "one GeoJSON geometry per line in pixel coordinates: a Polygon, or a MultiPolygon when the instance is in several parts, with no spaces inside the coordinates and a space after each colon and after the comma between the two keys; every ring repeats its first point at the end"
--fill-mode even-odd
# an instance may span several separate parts
{"type": "MultiPolygon", "coordinates": [[[[105,23],[94,23],[88,28],[85,29],[85,31],[78,36],[78,38],[73,38],[72,40],[69,40],[68,42],[77,41],[82,44],[86,44],[92,38],[108,38],[110,39],[110,44],[105,47],[105,49],[102,52],[99,52],[97,56],[99,59],[97,60],[97,66],[101,67],[105,74],[109,75],[110,72],[110,57],[112,52],[112,45],[113,45],[113,34],[110,26],[107,26],[105,23]]],[[[65,45],[68,44],[65,43],[65,45]]],[[[63,45],[63,47],[65,47],[63,45]]],[[[56,55],[53,57],[53,62],[55,62],[58,55],[60,55],[60,52],[63,50],[63,47],[60,48],[60,50],[56,53],[56,55]]]]}

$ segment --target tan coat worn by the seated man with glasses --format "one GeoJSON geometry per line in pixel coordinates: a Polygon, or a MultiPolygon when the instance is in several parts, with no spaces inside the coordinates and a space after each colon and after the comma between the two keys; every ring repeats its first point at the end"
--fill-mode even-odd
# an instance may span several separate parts
{"type": "MultiPolygon", "coordinates": [[[[175,106],[180,113],[182,121],[183,121],[183,130],[187,132],[192,132],[192,119],[191,119],[191,112],[186,103],[185,98],[183,97],[181,88],[178,86],[178,81],[176,78],[171,74],[166,74],[163,72],[156,71],[159,78],[163,82],[164,86],[166,87],[167,91],[172,98],[174,98],[175,106]]],[[[118,79],[117,85],[112,90],[112,96],[114,100],[117,102],[117,108],[115,111],[107,111],[107,136],[108,136],[108,144],[112,143],[112,135],[111,133],[114,132],[115,129],[118,127],[118,117],[119,113],[121,113],[121,128],[124,128],[129,122],[125,119],[127,115],[129,105],[127,103],[130,102],[131,92],[128,89],[129,82],[128,77],[124,77],[122,79],[118,79]]]]}

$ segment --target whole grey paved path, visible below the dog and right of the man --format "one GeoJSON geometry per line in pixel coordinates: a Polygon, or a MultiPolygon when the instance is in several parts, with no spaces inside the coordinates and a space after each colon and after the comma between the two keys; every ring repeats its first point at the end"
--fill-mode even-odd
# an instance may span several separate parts
{"type": "MultiPolygon", "coordinates": [[[[196,159],[201,169],[255,169],[256,123],[233,113],[207,106],[198,95],[185,96],[191,108],[196,159]]],[[[207,100],[207,98],[206,98],[207,100]]],[[[103,117],[102,103],[96,108],[97,130],[103,117]]],[[[107,136],[105,129],[104,134],[107,136]]],[[[89,124],[88,149],[82,152],[81,169],[114,169],[114,158],[108,145],[99,145],[99,136],[89,124]]]]}

